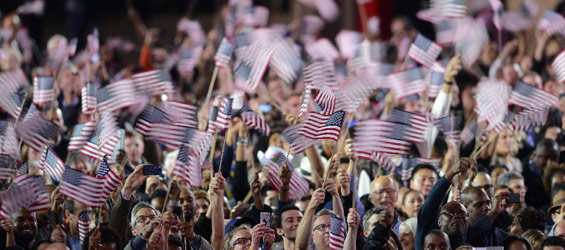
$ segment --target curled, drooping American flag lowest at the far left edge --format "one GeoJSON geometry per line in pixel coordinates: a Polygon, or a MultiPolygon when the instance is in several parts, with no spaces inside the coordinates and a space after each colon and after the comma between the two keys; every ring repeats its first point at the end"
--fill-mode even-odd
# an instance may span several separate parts
{"type": "Polygon", "coordinates": [[[33,199],[26,206],[28,211],[39,212],[51,208],[49,193],[45,188],[45,183],[41,176],[22,174],[14,178],[13,183],[20,187],[27,186],[31,188],[31,191],[33,192],[33,199]]]}

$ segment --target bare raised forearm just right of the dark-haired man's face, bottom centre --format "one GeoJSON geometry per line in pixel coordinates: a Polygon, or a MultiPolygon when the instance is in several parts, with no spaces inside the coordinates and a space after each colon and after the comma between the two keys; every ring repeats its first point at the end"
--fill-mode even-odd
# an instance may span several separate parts
{"type": "Polygon", "coordinates": [[[304,211],[304,217],[298,224],[298,229],[296,231],[295,248],[298,250],[308,249],[308,243],[310,238],[312,238],[312,225],[314,224],[314,213],[316,213],[316,208],[324,203],[326,198],[325,191],[323,188],[318,188],[312,194],[312,199],[304,211]]]}

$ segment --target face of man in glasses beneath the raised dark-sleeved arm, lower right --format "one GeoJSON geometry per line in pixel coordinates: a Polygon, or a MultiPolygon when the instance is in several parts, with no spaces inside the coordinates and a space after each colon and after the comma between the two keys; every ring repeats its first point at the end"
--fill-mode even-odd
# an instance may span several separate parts
{"type": "Polygon", "coordinates": [[[447,235],[461,237],[467,233],[468,216],[463,205],[451,202],[443,207],[438,225],[447,235]]]}

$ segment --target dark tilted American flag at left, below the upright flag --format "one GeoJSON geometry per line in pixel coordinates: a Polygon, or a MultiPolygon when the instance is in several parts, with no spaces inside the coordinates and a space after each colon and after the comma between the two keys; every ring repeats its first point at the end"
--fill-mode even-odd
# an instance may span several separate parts
{"type": "Polygon", "coordinates": [[[40,113],[26,118],[16,127],[16,135],[39,152],[61,131],[59,125],[43,118],[40,113]]]}

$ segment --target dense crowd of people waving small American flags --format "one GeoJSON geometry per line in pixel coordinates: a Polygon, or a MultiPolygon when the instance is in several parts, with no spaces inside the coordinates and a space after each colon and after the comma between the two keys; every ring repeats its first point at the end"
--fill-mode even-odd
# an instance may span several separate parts
{"type": "MultiPolygon", "coordinates": [[[[269,24],[267,8],[229,1],[209,31],[182,18],[174,41],[128,4],[140,44],[93,31],[78,50],[62,35],[38,49],[18,16],[30,6],[2,13],[0,247],[565,250],[562,31],[501,24],[489,1],[469,1],[458,18],[424,11],[438,31],[429,46],[440,48],[429,64],[412,51],[434,54],[408,18],[393,19],[386,39],[362,18],[362,32],[333,43],[320,31],[335,3],[298,2],[319,15],[269,24]],[[468,34],[454,28],[446,43],[443,21],[468,34]],[[399,80],[413,69],[418,79],[399,80]],[[149,87],[112,89],[152,70],[162,76],[149,87]],[[94,95],[92,105],[91,86],[109,97],[94,95]],[[195,109],[186,115],[172,102],[195,109]],[[57,133],[30,125],[37,114],[57,133]],[[190,136],[175,137],[187,121],[190,136]],[[109,151],[84,134],[88,124],[99,138],[115,125],[109,151]],[[29,130],[49,136],[38,147],[29,130]],[[84,146],[92,144],[96,153],[84,146]],[[106,190],[111,174],[118,181],[106,190]],[[108,192],[93,205],[96,189],[108,192]],[[46,204],[34,206],[43,194],[46,204]]],[[[523,6],[542,23],[532,2],[523,6]]],[[[551,13],[560,19],[546,26],[565,26],[551,13]]]]}

